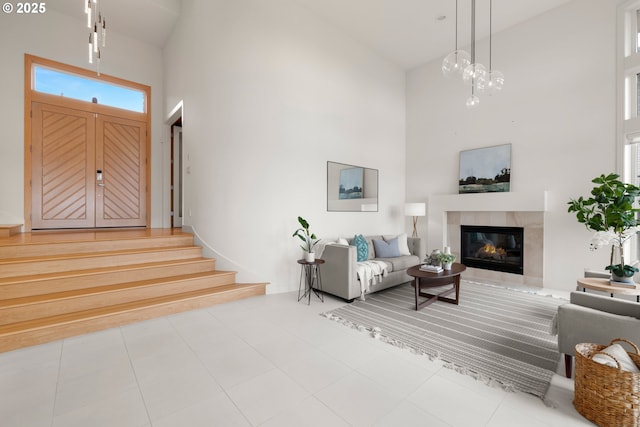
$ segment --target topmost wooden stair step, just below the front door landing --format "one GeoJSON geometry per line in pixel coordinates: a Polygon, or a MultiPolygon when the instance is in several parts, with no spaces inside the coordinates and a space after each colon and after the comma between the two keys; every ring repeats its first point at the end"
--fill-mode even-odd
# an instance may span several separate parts
{"type": "MultiPolygon", "coordinates": [[[[81,236],[80,234],[78,235],[81,236]]],[[[88,237],[85,240],[80,238],[76,240],[72,238],[65,239],[63,237],[56,239],[56,236],[53,235],[49,240],[41,238],[32,239],[28,242],[18,237],[0,239],[0,259],[72,255],[87,251],[109,253],[116,250],[193,246],[193,235],[186,233],[157,235],[146,238],[115,234],[110,237],[106,235],[100,240],[86,240],[88,237]]]]}

